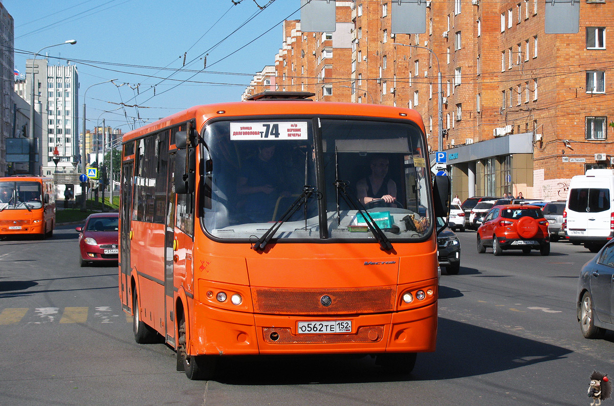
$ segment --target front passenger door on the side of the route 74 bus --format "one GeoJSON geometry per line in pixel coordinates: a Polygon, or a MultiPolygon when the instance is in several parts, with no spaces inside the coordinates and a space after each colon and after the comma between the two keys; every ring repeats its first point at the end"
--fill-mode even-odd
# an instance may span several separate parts
{"type": "Polygon", "coordinates": [[[165,221],[165,314],[166,314],[166,341],[176,345],[175,337],[175,311],[174,311],[174,241],[175,241],[175,193],[173,193],[175,171],[175,154],[168,157],[168,187],[166,187],[166,221],[165,221]]]}

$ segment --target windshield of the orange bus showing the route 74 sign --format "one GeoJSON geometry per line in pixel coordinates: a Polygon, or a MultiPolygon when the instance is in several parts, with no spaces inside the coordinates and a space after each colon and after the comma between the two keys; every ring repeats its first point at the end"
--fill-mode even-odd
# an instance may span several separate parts
{"type": "Polygon", "coordinates": [[[200,216],[216,238],[260,238],[289,208],[297,209],[278,240],[373,238],[371,219],[391,240],[430,232],[428,160],[410,122],[217,121],[203,138],[211,170],[200,185],[200,216]],[[314,192],[303,198],[306,187],[314,192]]]}

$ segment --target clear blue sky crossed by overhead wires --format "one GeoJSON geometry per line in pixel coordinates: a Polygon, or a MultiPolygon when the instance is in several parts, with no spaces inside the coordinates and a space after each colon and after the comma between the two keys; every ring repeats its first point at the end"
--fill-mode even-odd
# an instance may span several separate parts
{"type": "Polygon", "coordinates": [[[119,87],[103,84],[88,90],[87,128],[105,119],[106,125],[126,132],[134,126],[134,117],[152,122],[196,104],[239,101],[254,74],[274,64],[282,44],[281,21],[300,18],[300,0],[274,0],[261,12],[258,6],[268,2],[4,0],[2,4],[15,21],[15,68],[25,72],[26,59],[42,47],[76,39],[75,45],[42,53],[48,53],[51,64],[66,64],[53,59],[61,57],[77,65],[79,122],[85,90],[118,79],[119,87]],[[192,72],[173,74],[173,69],[182,68],[185,52],[183,69],[192,72]],[[198,73],[204,53],[209,54],[207,68],[198,73]]]}

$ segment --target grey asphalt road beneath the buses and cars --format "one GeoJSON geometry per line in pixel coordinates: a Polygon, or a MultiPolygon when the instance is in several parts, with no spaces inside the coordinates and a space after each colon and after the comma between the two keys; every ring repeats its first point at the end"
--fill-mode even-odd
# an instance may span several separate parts
{"type": "Polygon", "coordinates": [[[467,232],[460,274],[441,276],[437,351],[411,375],[368,357],[257,357],[190,381],[172,349],[134,343],[117,267],[80,268],[72,227],[0,241],[0,405],[589,405],[593,369],[614,375],[614,334],[586,340],[575,318],[593,254],[494,257],[467,232]]]}

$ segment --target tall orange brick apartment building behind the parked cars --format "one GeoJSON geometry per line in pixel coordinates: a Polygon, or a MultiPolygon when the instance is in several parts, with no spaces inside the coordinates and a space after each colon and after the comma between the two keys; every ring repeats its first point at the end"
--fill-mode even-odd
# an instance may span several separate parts
{"type": "Polygon", "coordinates": [[[612,2],[581,1],[577,34],[545,34],[537,0],[426,1],[426,33],[411,35],[392,33],[391,0],[336,6],[334,33],[284,23],[276,90],[416,109],[435,151],[441,71],[454,194],[564,199],[572,176],[613,167],[612,2]]]}

